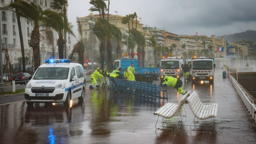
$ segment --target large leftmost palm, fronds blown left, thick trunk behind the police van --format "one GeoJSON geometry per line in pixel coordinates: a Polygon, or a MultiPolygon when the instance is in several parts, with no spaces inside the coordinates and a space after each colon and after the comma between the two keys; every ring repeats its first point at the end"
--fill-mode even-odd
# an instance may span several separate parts
{"type": "Polygon", "coordinates": [[[2,10],[11,10],[16,12],[14,9],[18,9],[16,12],[17,16],[28,19],[33,30],[30,36],[29,46],[32,47],[34,56],[34,68],[35,70],[40,66],[40,26],[42,25],[43,10],[41,6],[34,2],[25,2],[23,0],[16,0],[14,3],[10,3],[7,6],[1,8],[2,10]]]}

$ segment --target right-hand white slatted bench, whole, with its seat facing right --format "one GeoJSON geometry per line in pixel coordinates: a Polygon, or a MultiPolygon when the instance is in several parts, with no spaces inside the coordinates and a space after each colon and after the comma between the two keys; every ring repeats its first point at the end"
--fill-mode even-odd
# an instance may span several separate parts
{"type": "MultiPolygon", "coordinates": [[[[188,101],[188,104],[193,114],[195,115],[192,123],[198,122],[196,121],[196,118],[200,120],[211,118],[211,123],[214,123],[215,117],[217,116],[218,104],[213,102],[203,103],[200,100],[198,93],[196,91],[190,94],[190,96],[186,100],[188,101]]],[[[191,128],[191,125],[190,125],[190,128],[191,128]]]]}

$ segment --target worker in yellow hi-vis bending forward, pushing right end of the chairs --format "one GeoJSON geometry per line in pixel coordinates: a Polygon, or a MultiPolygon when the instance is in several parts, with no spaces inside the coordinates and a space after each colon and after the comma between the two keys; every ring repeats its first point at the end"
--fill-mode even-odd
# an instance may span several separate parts
{"type": "Polygon", "coordinates": [[[186,94],[187,92],[182,90],[182,80],[178,80],[178,78],[174,78],[172,76],[164,76],[163,86],[172,86],[173,88],[177,88],[177,91],[180,94],[186,94]]]}

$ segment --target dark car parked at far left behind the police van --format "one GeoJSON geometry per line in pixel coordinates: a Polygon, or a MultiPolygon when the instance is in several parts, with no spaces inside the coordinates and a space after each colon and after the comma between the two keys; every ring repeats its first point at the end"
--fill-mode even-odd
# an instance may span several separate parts
{"type": "Polygon", "coordinates": [[[12,76],[12,81],[15,80],[15,84],[27,84],[28,81],[32,78],[27,72],[16,73],[12,76]]]}

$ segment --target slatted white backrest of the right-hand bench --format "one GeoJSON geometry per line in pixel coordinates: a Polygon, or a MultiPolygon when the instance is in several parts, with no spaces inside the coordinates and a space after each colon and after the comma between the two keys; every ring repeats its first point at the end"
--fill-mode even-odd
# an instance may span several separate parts
{"type": "Polygon", "coordinates": [[[194,115],[197,115],[198,109],[203,105],[202,101],[199,99],[198,93],[196,91],[192,92],[187,98],[188,104],[194,115]]]}

